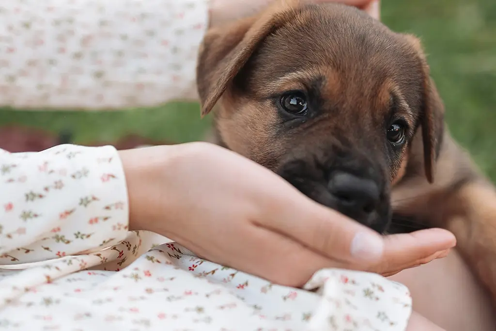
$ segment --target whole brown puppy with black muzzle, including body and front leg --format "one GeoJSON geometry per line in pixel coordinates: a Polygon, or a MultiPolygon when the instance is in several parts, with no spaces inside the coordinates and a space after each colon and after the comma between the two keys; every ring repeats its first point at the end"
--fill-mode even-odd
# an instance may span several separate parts
{"type": "Polygon", "coordinates": [[[218,144],[379,233],[450,230],[496,300],[496,190],[445,128],[417,38],[278,1],[208,31],[197,85],[218,144]]]}

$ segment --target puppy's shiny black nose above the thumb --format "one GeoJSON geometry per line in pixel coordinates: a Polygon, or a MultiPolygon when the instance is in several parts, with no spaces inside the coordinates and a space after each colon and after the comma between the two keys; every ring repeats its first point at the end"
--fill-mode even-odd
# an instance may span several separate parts
{"type": "Polygon", "coordinates": [[[327,188],[336,199],[339,212],[360,223],[370,223],[380,199],[374,180],[339,171],[331,175],[327,188]]]}

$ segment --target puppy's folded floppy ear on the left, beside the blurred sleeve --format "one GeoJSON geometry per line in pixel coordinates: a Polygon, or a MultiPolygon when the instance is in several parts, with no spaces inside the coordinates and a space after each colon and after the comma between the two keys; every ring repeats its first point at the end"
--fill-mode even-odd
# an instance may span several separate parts
{"type": "Polygon", "coordinates": [[[212,110],[264,38],[295,16],[298,3],[298,0],[279,0],[260,15],[207,32],[196,68],[202,116],[212,110]]]}

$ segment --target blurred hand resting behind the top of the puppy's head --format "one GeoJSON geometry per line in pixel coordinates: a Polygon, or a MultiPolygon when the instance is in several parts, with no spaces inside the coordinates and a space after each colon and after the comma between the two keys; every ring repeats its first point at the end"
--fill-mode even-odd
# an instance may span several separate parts
{"type": "MultiPolygon", "coordinates": [[[[211,0],[210,25],[248,17],[268,6],[274,0],[211,0]]],[[[372,17],[379,19],[379,0],[302,0],[307,3],[338,2],[365,10],[372,17]]]]}

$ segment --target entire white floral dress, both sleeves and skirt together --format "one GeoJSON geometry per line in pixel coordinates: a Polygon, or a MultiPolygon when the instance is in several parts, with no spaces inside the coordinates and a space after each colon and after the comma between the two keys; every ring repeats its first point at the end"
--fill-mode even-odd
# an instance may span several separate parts
{"type": "MultiPolygon", "coordinates": [[[[0,105],[118,109],[194,96],[207,8],[3,1],[0,105]]],[[[379,275],[324,269],[304,289],[279,286],[127,226],[113,147],[0,150],[0,330],[406,329],[408,289],[379,275]]]]}

